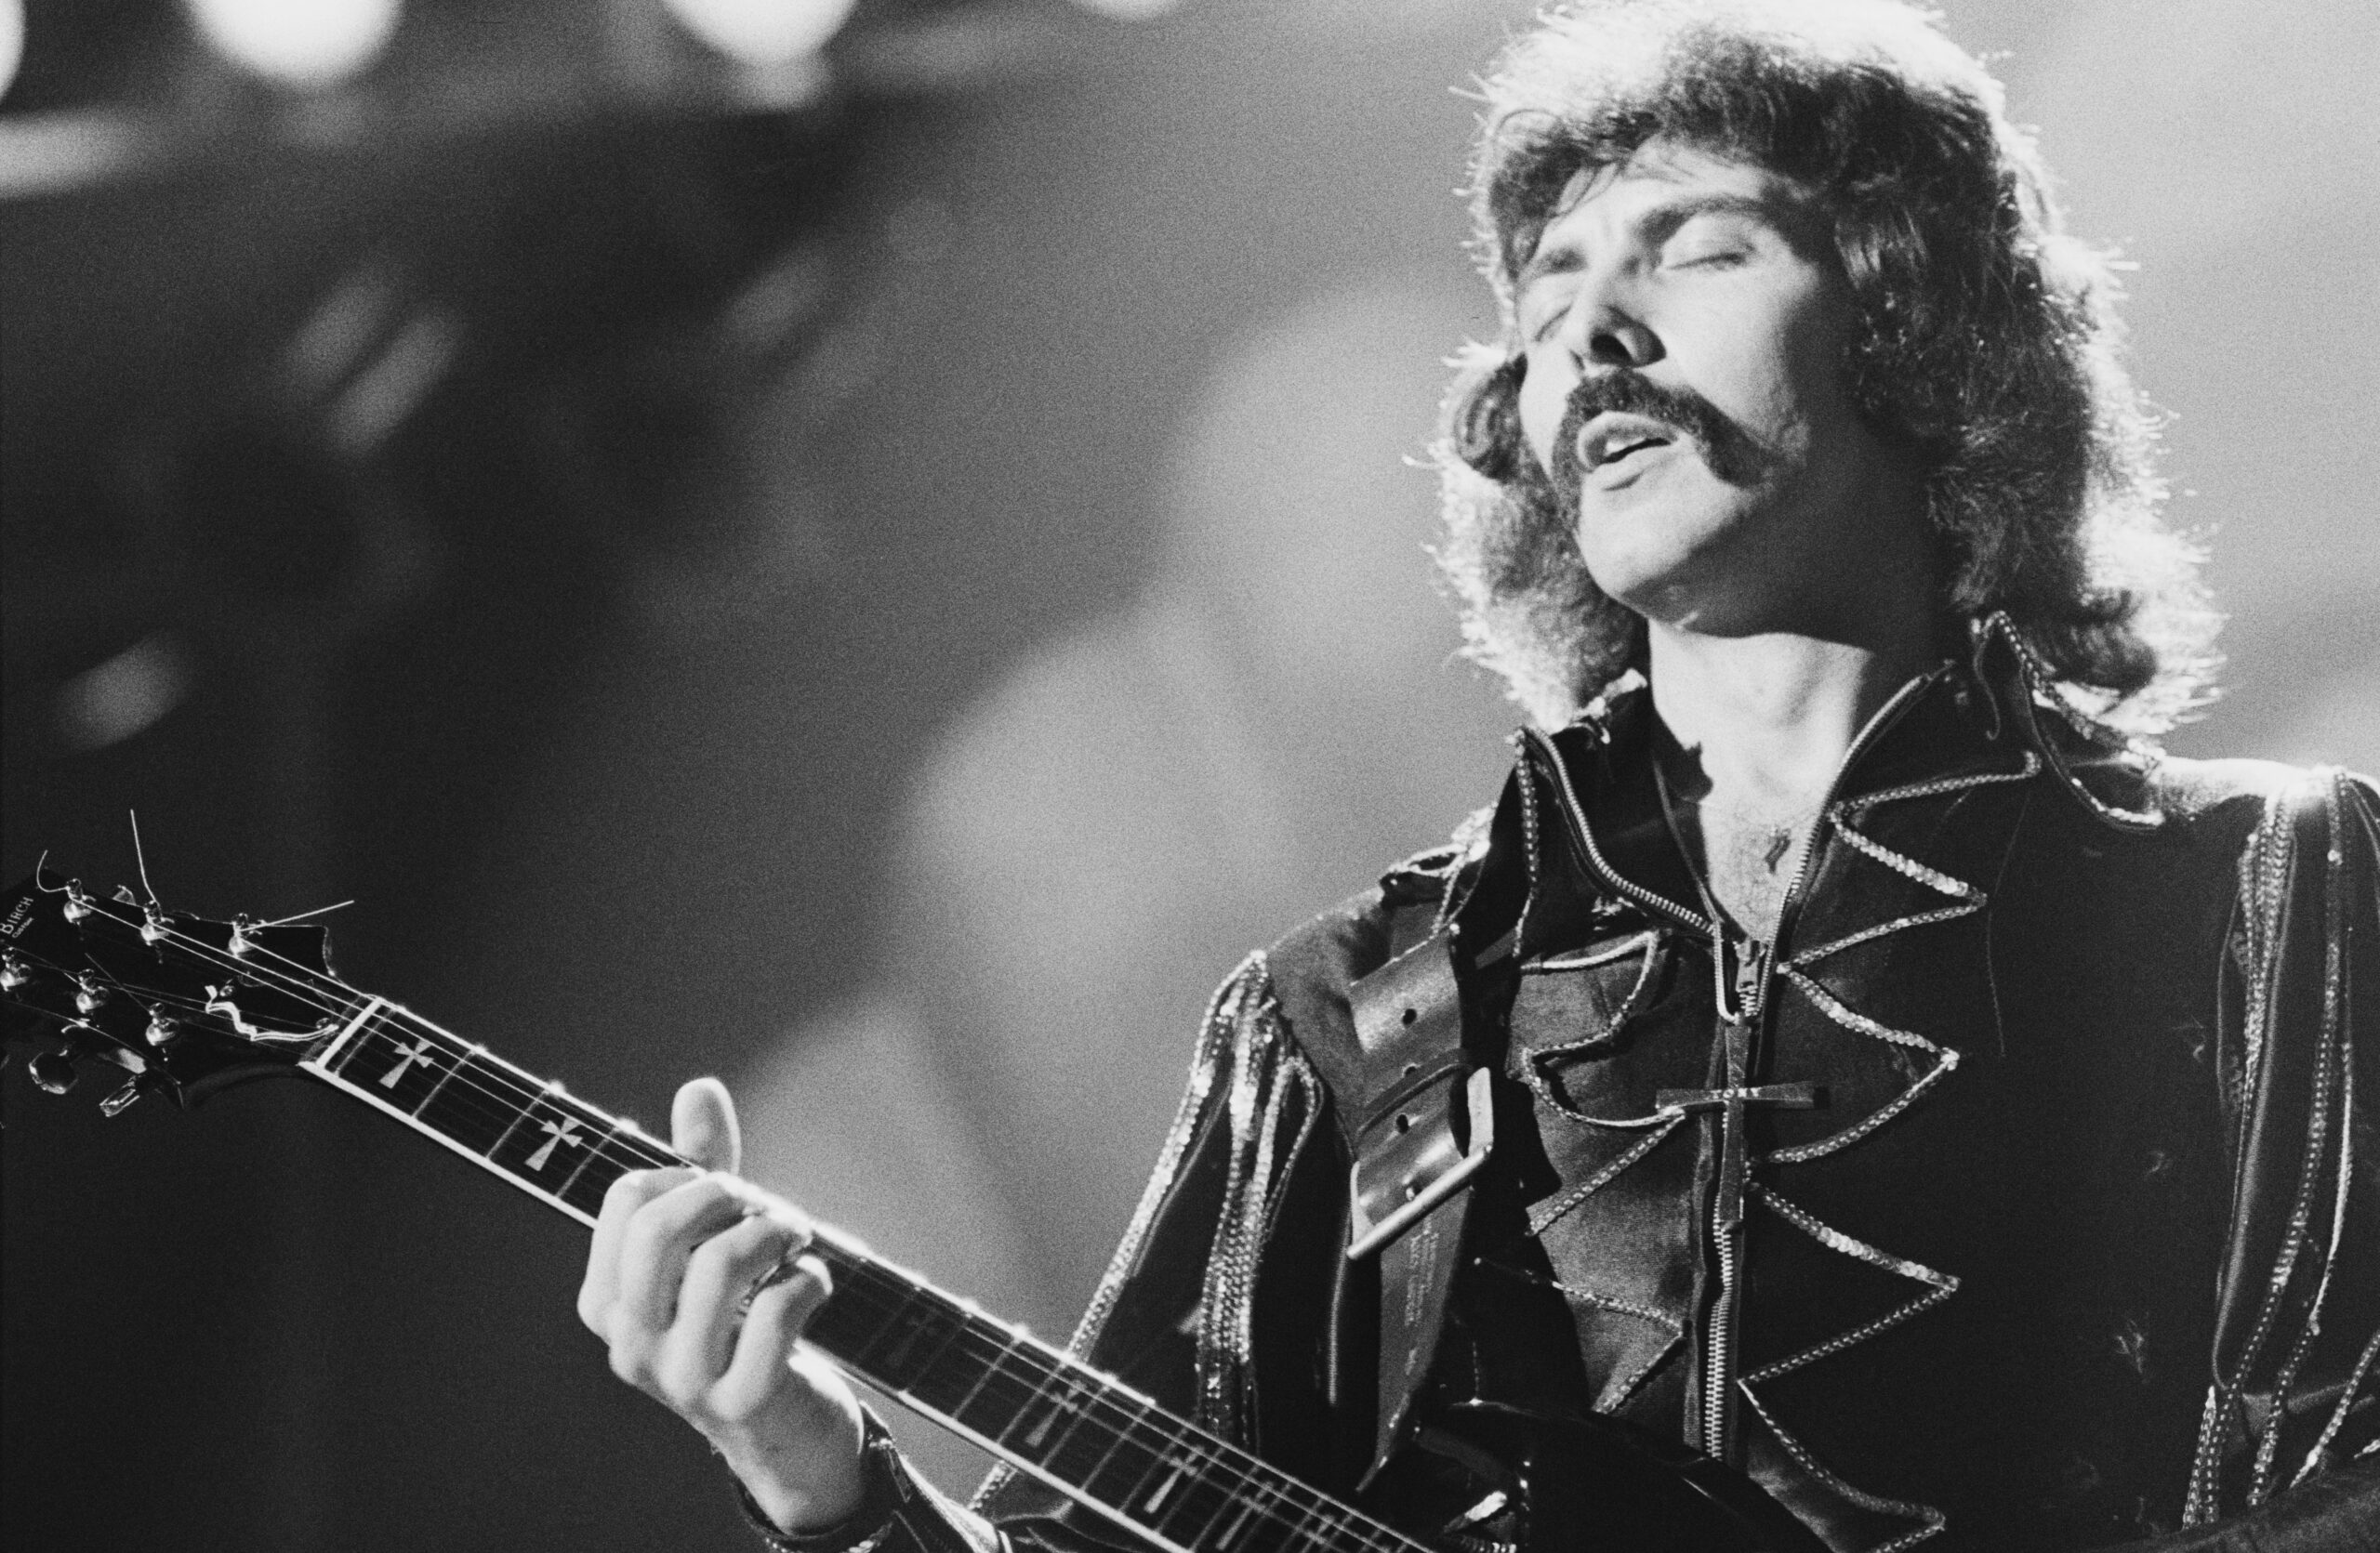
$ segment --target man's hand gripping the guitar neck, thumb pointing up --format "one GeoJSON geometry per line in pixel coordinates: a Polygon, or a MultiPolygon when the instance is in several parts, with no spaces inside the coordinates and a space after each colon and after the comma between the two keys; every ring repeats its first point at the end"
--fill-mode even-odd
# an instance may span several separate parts
{"type": "Polygon", "coordinates": [[[804,1253],[800,1213],[733,1177],[735,1104],[719,1080],[678,1089],[669,1120],[671,1146],[707,1168],[612,1182],[578,1320],[612,1346],[621,1379],[712,1441],[781,1529],[831,1527],[859,1508],[864,1427],[850,1382],[800,1341],[826,1301],[826,1265],[804,1253]]]}

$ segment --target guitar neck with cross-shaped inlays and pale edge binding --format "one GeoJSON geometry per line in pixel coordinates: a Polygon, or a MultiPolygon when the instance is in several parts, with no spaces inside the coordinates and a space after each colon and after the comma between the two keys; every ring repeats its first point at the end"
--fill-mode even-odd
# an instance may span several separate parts
{"type": "MultiPolygon", "coordinates": [[[[635,1123],[383,999],[357,999],[300,1065],[583,1225],[621,1175],[688,1163],[635,1123]]],[[[1159,1548],[1418,1548],[857,1239],[821,1227],[814,1251],[835,1291],[809,1322],[812,1344],[1159,1548]]]]}

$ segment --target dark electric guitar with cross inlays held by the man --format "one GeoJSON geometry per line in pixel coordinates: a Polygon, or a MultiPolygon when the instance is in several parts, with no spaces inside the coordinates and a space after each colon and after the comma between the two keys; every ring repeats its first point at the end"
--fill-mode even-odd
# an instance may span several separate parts
{"type": "MultiPolygon", "coordinates": [[[[633,1123],[345,985],[331,973],[319,925],[205,920],[131,889],[93,897],[43,870],[5,897],[0,994],[10,1004],[10,1044],[36,1049],[29,1070],[38,1087],[64,1092],[81,1063],[121,1073],[121,1087],[100,1101],[102,1115],[150,1094],[190,1106],[248,1077],[302,1073],[590,1227],[621,1175],[688,1163],[633,1123]]],[[[833,1275],[833,1296],[807,1341],[1152,1548],[1430,1548],[885,1263],[840,1230],[819,1225],[814,1253],[833,1275]]],[[[1597,1524],[1561,1527],[1554,1539],[1533,1534],[1533,1553],[1821,1553],[1754,1484],[1680,1451],[1599,1434],[1580,1441],[1566,1463],[1566,1475],[1580,1479],[1561,1501],[1595,1505],[1597,1524]]]]}

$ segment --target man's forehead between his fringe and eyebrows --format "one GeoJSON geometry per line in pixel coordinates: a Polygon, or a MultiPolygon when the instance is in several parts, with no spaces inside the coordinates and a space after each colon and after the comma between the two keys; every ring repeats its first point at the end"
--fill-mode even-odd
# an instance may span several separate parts
{"type": "Polygon", "coordinates": [[[1823,235],[1816,200],[1802,183],[1752,162],[1652,140],[1621,162],[1583,166],[1571,176],[1518,278],[1571,269],[1587,247],[1702,209],[1764,221],[1797,250],[1823,235]]]}

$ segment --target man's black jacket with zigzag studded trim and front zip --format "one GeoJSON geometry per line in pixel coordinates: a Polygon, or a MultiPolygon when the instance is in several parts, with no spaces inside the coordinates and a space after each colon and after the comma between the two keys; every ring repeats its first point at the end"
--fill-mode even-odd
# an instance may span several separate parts
{"type": "MultiPolygon", "coordinates": [[[[1438,1444],[1371,1489],[1399,1524],[1440,1534],[1478,1496],[1445,1484],[1447,1439],[1473,1463],[1466,1439],[1502,1439],[1473,1420],[1616,1415],[1840,1553],[2380,1546],[2373,792],[2140,759],[2033,685],[1994,637],[1911,683],[1844,763],[1778,944],[1728,975],[1649,697],[1523,740],[1480,840],[1226,985],[1078,1346],[1354,1494],[1378,1291],[1340,1256],[1347,987],[1454,920],[1516,954],[1473,973],[1497,1149],[1418,1406],[1438,1444]],[[1680,1101],[1730,1080],[1816,1101],[1740,1108],[1733,1239],[1723,1108],[1680,1101]]],[[[990,1524],[909,1503],[881,1546],[1116,1536],[1002,1475],[990,1524]]],[[[1549,1515],[1457,1546],[1571,1546],[1549,1515]]]]}

